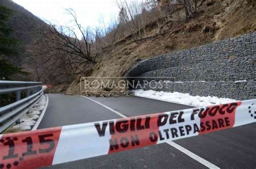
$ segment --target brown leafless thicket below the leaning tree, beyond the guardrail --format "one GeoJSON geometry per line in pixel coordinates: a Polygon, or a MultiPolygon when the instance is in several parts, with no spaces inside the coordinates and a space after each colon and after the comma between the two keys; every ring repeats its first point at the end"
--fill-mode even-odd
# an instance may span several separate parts
{"type": "Polygon", "coordinates": [[[29,64],[32,65],[31,71],[36,72],[35,77],[32,78],[37,80],[40,78],[44,83],[71,83],[77,72],[76,64],[80,64],[80,61],[73,60],[72,62],[63,51],[52,50],[50,46],[55,44],[52,44],[48,38],[42,38],[36,44],[30,48],[33,56],[29,64]]]}

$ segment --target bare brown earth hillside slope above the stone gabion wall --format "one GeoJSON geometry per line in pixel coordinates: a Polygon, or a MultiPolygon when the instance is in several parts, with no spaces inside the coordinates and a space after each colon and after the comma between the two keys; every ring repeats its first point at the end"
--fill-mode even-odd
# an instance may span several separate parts
{"type": "Polygon", "coordinates": [[[79,85],[81,76],[124,76],[138,60],[256,31],[256,6],[253,0],[224,0],[210,5],[204,1],[200,10],[200,16],[188,23],[169,20],[161,26],[161,35],[142,40],[138,45],[123,40],[125,43],[105,48],[105,54],[99,57],[98,64],[85,65],[87,73],[77,76],[66,94],[82,94],[79,85]]]}

